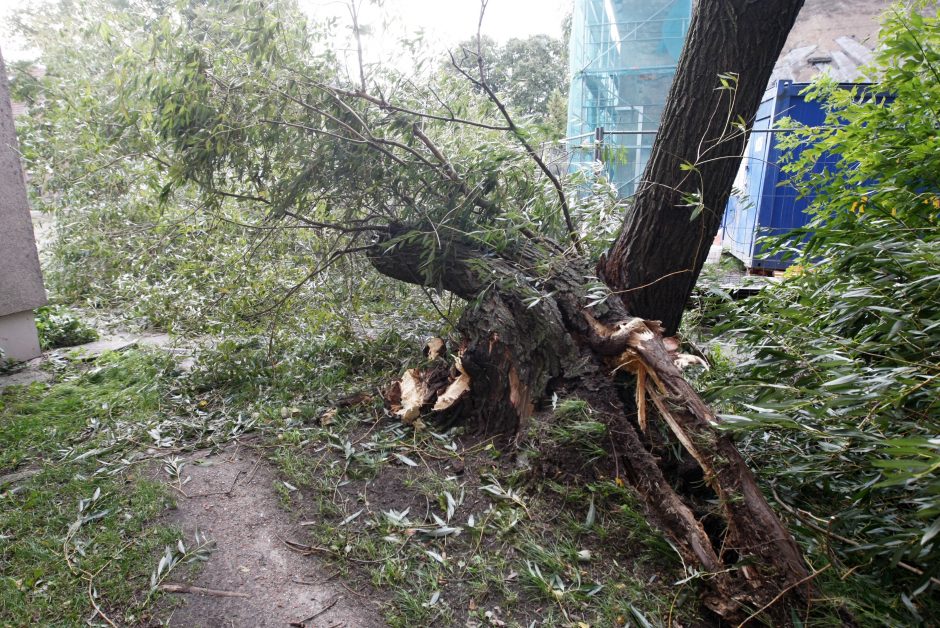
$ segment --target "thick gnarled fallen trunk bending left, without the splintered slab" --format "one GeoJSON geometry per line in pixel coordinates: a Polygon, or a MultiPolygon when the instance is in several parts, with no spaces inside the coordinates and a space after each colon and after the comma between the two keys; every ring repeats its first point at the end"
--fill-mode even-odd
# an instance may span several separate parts
{"type": "MultiPolygon", "coordinates": [[[[401,237],[392,234],[396,236],[401,237]]],[[[429,285],[426,249],[415,241],[402,238],[377,250],[370,261],[388,277],[429,285]]],[[[499,258],[485,256],[458,235],[441,239],[432,285],[469,303],[457,327],[463,338],[461,361],[473,382],[473,394],[460,412],[474,431],[515,436],[544,399],[549,382],[576,361],[578,350],[559,301],[528,301],[543,293],[521,269],[546,259],[548,255],[535,245],[499,258]]],[[[574,292],[582,276],[562,273],[554,281],[559,289],[574,292]]]]}

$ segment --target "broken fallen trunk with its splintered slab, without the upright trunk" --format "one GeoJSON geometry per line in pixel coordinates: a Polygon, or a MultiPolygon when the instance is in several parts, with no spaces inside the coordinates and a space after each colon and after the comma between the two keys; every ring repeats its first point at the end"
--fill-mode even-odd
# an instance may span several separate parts
{"type": "MultiPolygon", "coordinates": [[[[422,253],[420,246],[396,240],[377,247],[371,261],[387,276],[422,284],[428,270],[422,253]]],[[[513,435],[522,433],[551,391],[584,399],[616,434],[610,453],[655,522],[687,563],[709,574],[709,608],[740,619],[745,609],[761,608],[791,588],[794,600],[800,597],[797,584],[807,572],[799,549],[733,443],[715,430],[715,415],[682,377],[657,323],[631,317],[615,299],[589,307],[587,264],[559,259],[537,243],[491,258],[454,237],[442,253],[441,287],[470,303],[458,323],[470,391],[438,418],[513,435]],[[553,272],[536,289],[524,269],[546,263],[554,264],[553,272]],[[534,296],[541,298],[533,305],[534,296]],[[701,466],[721,503],[721,538],[706,533],[644,444],[649,438],[639,423],[625,415],[622,391],[611,376],[621,367],[643,374],[649,384],[637,397],[652,401],[655,412],[649,414],[664,420],[701,466]]]]}

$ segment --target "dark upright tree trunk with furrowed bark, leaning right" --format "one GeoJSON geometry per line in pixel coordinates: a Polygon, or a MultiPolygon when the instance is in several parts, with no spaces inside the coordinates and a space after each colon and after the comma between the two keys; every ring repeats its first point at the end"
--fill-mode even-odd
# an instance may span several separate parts
{"type": "Polygon", "coordinates": [[[679,329],[721,225],[747,141],[741,125],[753,120],[802,6],[803,0],[695,4],[643,181],[597,266],[631,314],[662,321],[667,335],[679,329]]]}

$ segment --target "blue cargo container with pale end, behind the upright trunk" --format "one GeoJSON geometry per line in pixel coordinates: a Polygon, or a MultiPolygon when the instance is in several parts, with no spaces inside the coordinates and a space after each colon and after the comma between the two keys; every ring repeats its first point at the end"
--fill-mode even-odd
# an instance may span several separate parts
{"type": "MultiPolygon", "coordinates": [[[[781,157],[777,142],[779,133],[770,132],[782,118],[792,118],[807,126],[825,123],[826,114],[820,103],[807,101],[801,95],[807,85],[778,81],[764,94],[754,120],[754,133],[735,181],[740,195],[732,196],[725,211],[722,244],[751,270],[783,270],[789,266],[790,262],[781,260],[779,255],[761,255],[758,240],[802,227],[810,218],[804,210],[813,199],[797,198],[796,188],[778,166],[781,157]]],[[[847,89],[856,86],[842,85],[847,89]]],[[[885,96],[879,98],[884,102],[893,100],[885,96]]],[[[822,172],[838,161],[838,155],[828,155],[820,159],[813,170],[822,172]]]]}

